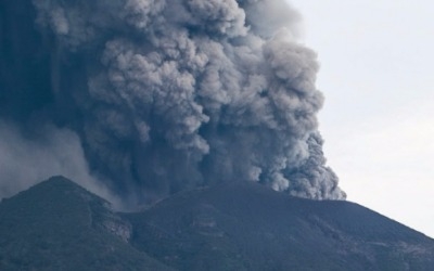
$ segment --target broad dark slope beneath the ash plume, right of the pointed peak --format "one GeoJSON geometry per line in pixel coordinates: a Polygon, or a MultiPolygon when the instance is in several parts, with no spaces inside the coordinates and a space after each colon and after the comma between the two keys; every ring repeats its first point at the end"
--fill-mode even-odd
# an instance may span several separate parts
{"type": "Polygon", "coordinates": [[[181,270],[434,270],[434,241],[348,202],[252,182],[179,194],[125,215],[131,243],[181,270]]]}

